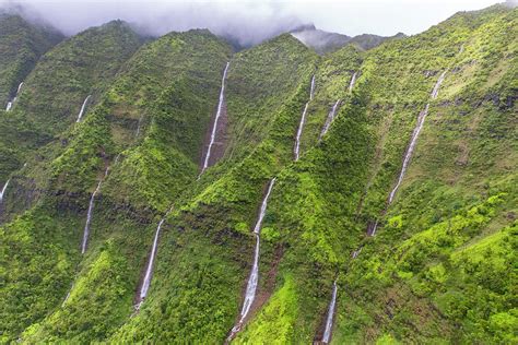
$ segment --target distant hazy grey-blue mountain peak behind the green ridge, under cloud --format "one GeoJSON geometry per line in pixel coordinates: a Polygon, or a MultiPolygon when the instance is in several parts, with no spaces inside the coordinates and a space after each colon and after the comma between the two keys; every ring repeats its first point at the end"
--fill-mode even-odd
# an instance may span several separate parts
{"type": "Polygon", "coordinates": [[[335,51],[348,44],[354,44],[363,50],[368,50],[379,46],[387,39],[402,38],[404,34],[399,33],[391,37],[363,34],[350,37],[342,34],[329,33],[317,29],[315,25],[304,25],[292,32],[292,35],[318,53],[335,51]]]}

